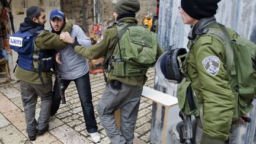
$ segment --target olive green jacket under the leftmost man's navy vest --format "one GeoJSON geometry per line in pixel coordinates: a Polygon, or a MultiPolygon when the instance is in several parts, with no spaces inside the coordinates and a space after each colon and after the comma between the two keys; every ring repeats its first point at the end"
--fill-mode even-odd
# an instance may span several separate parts
{"type": "MultiPolygon", "coordinates": [[[[68,31],[71,33],[73,24],[66,23],[65,27],[62,29],[63,32],[68,31]]],[[[59,35],[52,33],[48,30],[44,30],[42,33],[37,35],[34,41],[34,49],[37,50],[47,50],[47,49],[63,49],[68,45],[64,41],[59,39],[59,35]]],[[[34,65],[38,65],[34,63],[34,65]]],[[[52,71],[50,72],[42,72],[41,76],[45,83],[52,81],[52,71]]],[[[27,71],[23,68],[17,66],[15,70],[15,76],[20,79],[21,81],[29,82],[31,84],[41,84],[38,72],[27,71]]]]}

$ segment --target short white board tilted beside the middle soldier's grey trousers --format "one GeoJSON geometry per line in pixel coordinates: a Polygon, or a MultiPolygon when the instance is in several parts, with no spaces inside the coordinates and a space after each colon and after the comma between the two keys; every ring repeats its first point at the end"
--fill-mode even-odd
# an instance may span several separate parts
{"type": "Polygon", "coordinates": [[[143,87],[142,96],[167,107],[178,104],[178,99],[176,97],[165,94],[164,92],[156,91],[155,89],[146,86],[143,87]]]}

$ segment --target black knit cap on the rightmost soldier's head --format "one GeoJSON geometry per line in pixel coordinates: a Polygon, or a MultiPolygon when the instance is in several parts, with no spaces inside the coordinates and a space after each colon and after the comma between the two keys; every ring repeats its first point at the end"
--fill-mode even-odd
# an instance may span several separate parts
{"type": "Polygon", "coordinates": [[[215,15],[218,2],[220,0],[181,0],[181,8],[190,17],[200,20],[215,15]]]}

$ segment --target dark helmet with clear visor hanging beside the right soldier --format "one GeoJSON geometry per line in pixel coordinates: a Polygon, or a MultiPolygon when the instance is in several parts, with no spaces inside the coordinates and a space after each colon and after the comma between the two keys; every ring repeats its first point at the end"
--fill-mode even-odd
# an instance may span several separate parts
{"type": "Polygon", "coordinates": [[[187,50],[185,48],[172,49],[163,54],[160,68],[165,78],[178,83],[181,82],[183,75],[180,72],[180,63],[185,60],[186,54],[187,50]]]}

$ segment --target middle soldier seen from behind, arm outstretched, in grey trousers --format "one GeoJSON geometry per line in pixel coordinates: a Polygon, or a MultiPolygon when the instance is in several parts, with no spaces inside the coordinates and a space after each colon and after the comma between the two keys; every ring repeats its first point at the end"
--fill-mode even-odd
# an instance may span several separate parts
{"type": "MultiPolygon", "coordinates": [[[[109,58],[108,56],[111,55],[111,52],[113,52],[116,45],[118,45],[117,33],[118,30],[120,30],[121,25],[123,26],[131,23],[137,24],[135,12],[139,11],[139,9],[140,4],[137,0],[121,0],[117,2],[117,4],[114,6],[113,14],[117,22],[114,23],[113,27],[108,27],[107,30],[105,30],[103,35],[104,39],[100,43],[95,44],[92,47],[75,46],[75,52],[79,53],[79,55],[81,56],[87,57],[88,59],[97,59],[104,56],[105,60],[107,60],[109,58]]],[[[146,30],[146,28],[143,29],[146,30]]],[[[143,31],[141,31],[141,33],[142,32],[143,31]]],[[[148,31],[148,33],[152,32],[148,31]]],[[[155,34],[153,35],[155,36],[155,34]]],[[[151,36],[152,35],[146,37],[151,36]]],[[[75,43],[75,40],[73,40],[69,36],[69,33],[60,34],[60,39],[68,43],[75,43]]],[[[158,59],[158,57],[162,54],[162,49],[158,46],[156,39],[154,41],[155,52],[153,52],[152,50],[152,53],[155,53],[155,59],[158,59]]],[[[121,42],[120,45],[122,45],[121,42]]],[[[119,53],[117,54],[119,55],[119,53]]],[[[116,60],[120,60],[121,62],[121,59],[116,60]]],[[[106,63],[105,66],[107,66],[108,68],[111,67],[108,66],[108,63],[106,63]]],[[[140,71],[140,69],[136,70],[140,71]]],[[[113,69],[111,69],[105,80],[107,82],[107,88],[105,89],[103,96],[99,100],[97,107],[101,123],[103,124],[105,132],[110,138],[111,143],[132,144],[135,124],[137,120],[137,113],[140,104],[140,96],[142,94],[143,85],[145,85],[145,82],[147,80],[146,73],[140,73],[140,75],[137,76],[120,77],[115,76],[113,69]],[[116,121],[114,120],[114,111],[118,110],[119,108],[121,110],[120,130],[117,128],[116,121]]]]}

